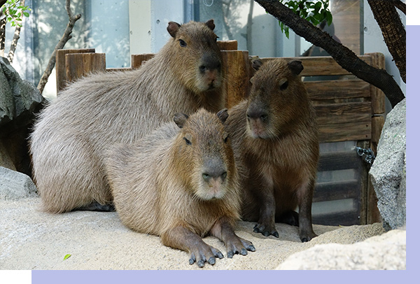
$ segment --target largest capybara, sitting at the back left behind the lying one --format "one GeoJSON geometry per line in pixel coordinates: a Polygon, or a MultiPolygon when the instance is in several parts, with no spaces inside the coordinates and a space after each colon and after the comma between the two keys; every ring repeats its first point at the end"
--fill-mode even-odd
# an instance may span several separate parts
{"type": "Polygon", "coordinates": [[[43,208],[112,210],[103,153],[133,143],[177,112],[224,107],[214,21],[169,22],[172,38],[141,68],[97,73],[66,87],[31,134],[34,180],[43,208]]]}

